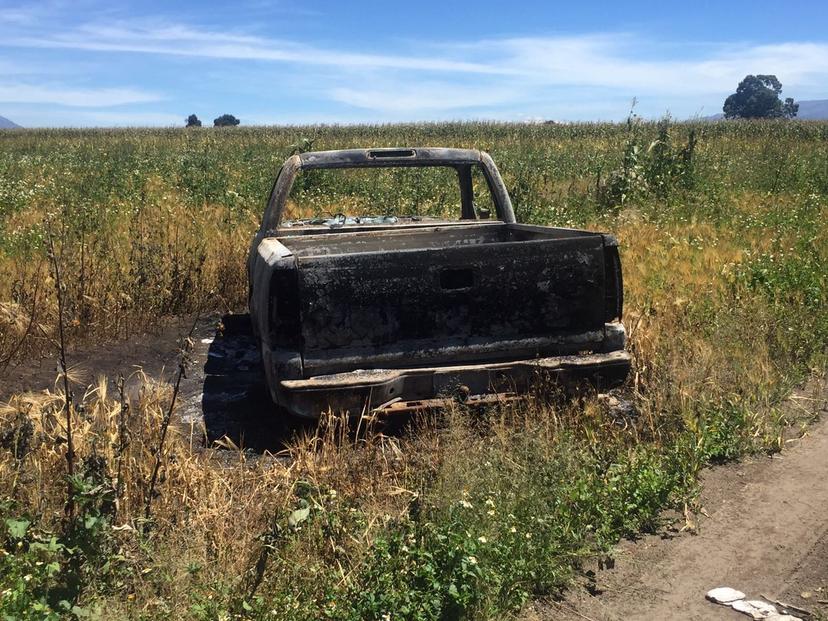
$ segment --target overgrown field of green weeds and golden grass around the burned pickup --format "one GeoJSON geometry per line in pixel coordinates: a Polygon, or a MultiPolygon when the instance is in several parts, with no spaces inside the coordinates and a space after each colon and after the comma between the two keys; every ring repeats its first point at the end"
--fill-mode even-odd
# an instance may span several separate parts
{"type": "MultiPolygon", "coordinates": [[[[414,188],[372,191],[440,202],[414,188]]],[[[324,211],[353,188],[304,189],[324,211]]],[[[494,619],[554,595],[664,509],[692,527],[705,465],[809,422],[780,404],[825,369],[826,221],[821,122],[0,132],[0,373],[61,340],[70,365],[0,409],[0,613],[494,619]],[[180,424],[174,375],[74,383],[77,346],[243,310],[264,200],[311,144],[482,148],[519,221],[616,234],[632,407],[539,390],[254,456],[180,424]]]]}

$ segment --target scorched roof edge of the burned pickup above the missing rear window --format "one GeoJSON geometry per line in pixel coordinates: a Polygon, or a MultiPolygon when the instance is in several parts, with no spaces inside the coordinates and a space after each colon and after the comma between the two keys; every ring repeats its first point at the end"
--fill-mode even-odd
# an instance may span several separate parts
{"type": "Polygon", "coordinates": [[[443,147],[393,147],[309,151],[299,154],[298,157],[299,166],[304,170],[376,166],[461,166],[479,163],[481,152],[477,149],[443,147]]]}

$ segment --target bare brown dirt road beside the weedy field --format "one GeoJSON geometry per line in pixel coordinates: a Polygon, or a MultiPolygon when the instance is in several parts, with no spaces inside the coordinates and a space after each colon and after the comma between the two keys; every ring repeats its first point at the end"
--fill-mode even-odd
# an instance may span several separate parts
{"type": "Polygon", "coordinates": [[[595,595],[574,590],[563,602],[535,604],[525,619],[749,619],[705,600],[718,586],[828,619],[826,398],[824,389],[792,397],[791,407],[822,417],[780,455],[705,473],[709,517],[700,517],[696,534],[624,542],[614,568],[597,573],[595,595]]]}

